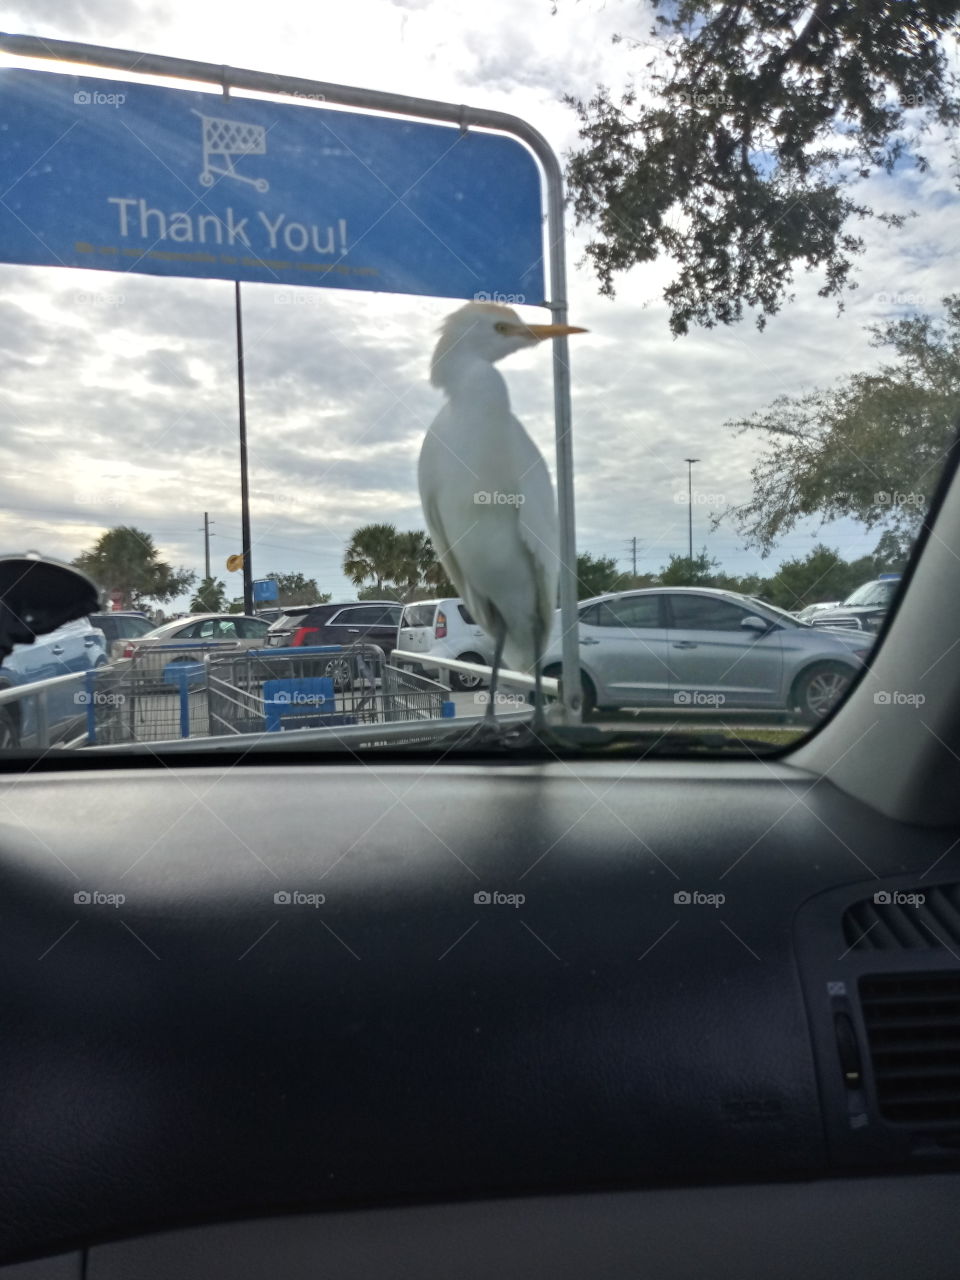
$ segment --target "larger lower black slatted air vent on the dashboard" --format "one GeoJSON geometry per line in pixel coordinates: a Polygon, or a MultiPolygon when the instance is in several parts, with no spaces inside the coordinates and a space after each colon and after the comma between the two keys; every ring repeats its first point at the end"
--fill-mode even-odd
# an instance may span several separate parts
{"type": "Polygon", "coordinates": [[[879,1112],[896,1124],[960,1120],[960,973],[860,979],[879,1112]]]}

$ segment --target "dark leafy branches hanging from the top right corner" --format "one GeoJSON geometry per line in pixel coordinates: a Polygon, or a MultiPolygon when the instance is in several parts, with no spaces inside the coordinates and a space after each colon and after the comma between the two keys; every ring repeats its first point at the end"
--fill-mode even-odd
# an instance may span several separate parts
{"type": "Polygon", "coordinates": [[[945,40],[957,0],[650,0],[652,105],[636,87],[567,97],[582,147],[567,183],[600,292],[667,256],[671,329],[758,324],[788,298],[797,268],[820,294],[851,288],[855,223],[877,218],[858,180],[913,154],[910,129],[960,120],[945,40]],[[911,110],[916,109],[916,110],[911,110]],[[911,114],[908,114],[911,113],[911,114]]]}

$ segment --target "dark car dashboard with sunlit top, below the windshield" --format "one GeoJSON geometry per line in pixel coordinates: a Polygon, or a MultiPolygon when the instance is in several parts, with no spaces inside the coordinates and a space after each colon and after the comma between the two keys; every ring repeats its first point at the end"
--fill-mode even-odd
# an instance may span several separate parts
{"type": "Polygon", "coordinates": [[[955,1274],[960,832],[783,762],[88,764],[0,778],[0,1280],[955,1274]]]}

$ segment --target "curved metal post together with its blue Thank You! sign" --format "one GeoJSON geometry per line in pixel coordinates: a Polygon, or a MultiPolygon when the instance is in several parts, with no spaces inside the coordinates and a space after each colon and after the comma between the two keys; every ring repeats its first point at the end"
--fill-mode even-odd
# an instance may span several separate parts
{"type": "MultiPolygon", "coordinates": [[[[305,109],[230,97],[228,116],[223,97],[218,101],[212,92],[160,88],[138,81],[82,82],[79,77],[5,69],[0,72],[0,116],[5,124],[0,131],[0,160],[5,172],[20,174],[24,166],[29,172],[36,164],[38,151],[31,138],[42,125],[45,111],[50,123],[52,82],[76,83],[76,111],[65,115],[60,104],[58,132],[51,134],[47,148],[51,155],[46,155],[44,168],[29,172],[29,183],[18,179],[5,193],[0,209],[4,261],[435,297],[502,293],[549,307],[556,324],[567,321],[561,168],[547,140],[517,116],[37,36],[0,35],[0,49],[24,58],[114,68],[132,76],[202,82],[220,93],[247,90],[323,104],[323,109],[305,109]],[[120,97],[123,102],[118,101],[120,97]],[[161,99],[169,104],[169,120],[175,116],[174,123],[157,124],[156,106],[137,114],[138,104],[159,104],[161,99]],[[332,108],[361,108],[406,119],[332,108]],[[111,110],[127,113],[125,129],[110,131],[109,115],[104,113],[111,110]],[[196,146],[202,145],[198,156],[191,154],[195,170],[189,180],[179,177],[187,116],[195,134],[198,132],[196,146]],[[417,123],[422,120],[434,123],[417,123]],[[142,125],[142,134],[129,127],[131,122],[142,125]],[[436,129],[435,123],[457,125],[458,131],[451,137],[452,131],[436,129]],[[495,133],[471,132],[471,128],[495,133]],[[317,129],[329,134],[328,146],[316,145],[317,129]],[[104,141],[108,133],[109,145],[104,141]],[[83,160],[84,138],[96,157],[93,164],[83,160]],[[536,178],[536,169],[513,140],[525,143],[540,161],[547,184],[549,298],[543,288],[540,184],[538,179],[531,186],[531,170],[536,178]],[[132,165],[124,150],[131,147],[136,148],[132,165]],[[76,157],[73,172],[64,175],[70,157],[76,157]],[[351,182],[340,189],[335,178],[344,165],[351,166],[351,182]],[[186,193],[180,189],[180,202],[173,209],[151,204],[132,183],[132,177],[159,182],[164,172],[173,172],[180,188],[187,187],[186,193]],[[471,202],[481,173],[489,178],[485,196],[493,193],[495,200],[471,202]],[[108,179],[115,180],[115,192],[100,189],[108,179]],[[205,196],[205,191],[210,195],[205,196]],[[349,209],[344,205],[319,219],[301,212],[320,196],[330,204],[330,192],[342,201],[361,192],[365,204],[349,209]],[[219,204],[212,205],[216,193],[219,204]],[[268,198],[269,211],[262,204],[268,198]],[[458,201],[461,210],[470,210],[470,216],[461,214],[454,220],[451,210],[456,211],[458,201]],[[90,237],[78,237],[76,230],[58,241],[58,218],[68,212],[78,228],[77,219],[84,210],[91,234],[108,225],[105,218],[113,219],[109,242],[95,243],[90,237]]],[[[570,365],[564,338],[553,342],[553,381],[563,705],[566,719],[576,722],[580,654],[570,365]]],[[[248,552],[246,529],[243,544],[248,552]]],[[[250,556],[244,559],[248,562],[250,556]]],[[[248,572],[244,568],[244,599],[248,599],[248,572]]]]}

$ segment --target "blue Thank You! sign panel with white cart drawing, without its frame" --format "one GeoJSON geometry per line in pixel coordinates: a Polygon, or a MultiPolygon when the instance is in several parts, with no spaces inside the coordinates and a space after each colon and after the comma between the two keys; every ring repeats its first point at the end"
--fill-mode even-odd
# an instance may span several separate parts
{"type": "Polygon", "coordinates": [[[543,305],[517,141],[0,70],[0,261],[543,305]]]}

